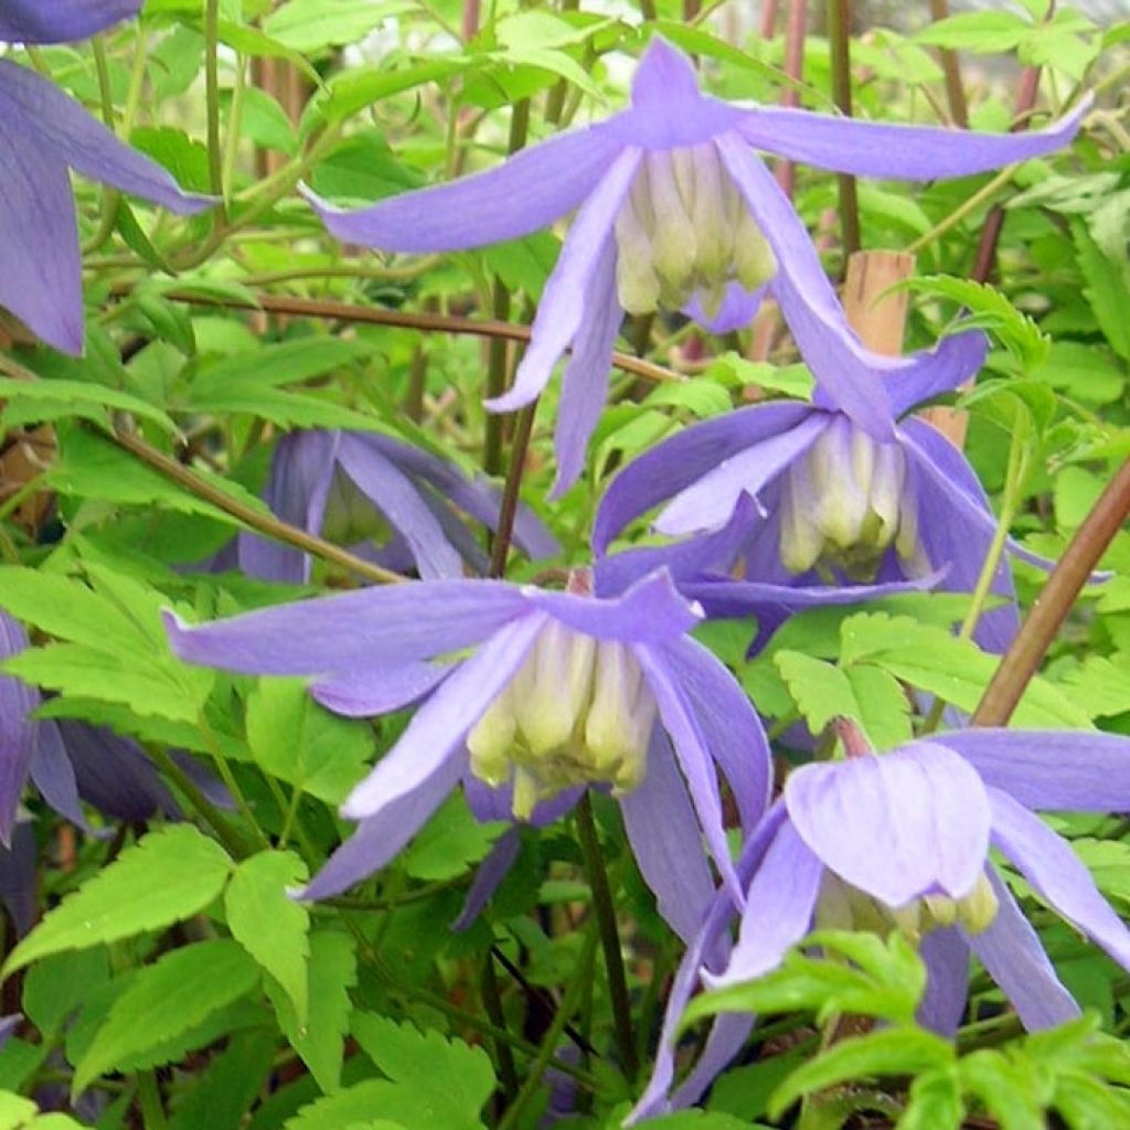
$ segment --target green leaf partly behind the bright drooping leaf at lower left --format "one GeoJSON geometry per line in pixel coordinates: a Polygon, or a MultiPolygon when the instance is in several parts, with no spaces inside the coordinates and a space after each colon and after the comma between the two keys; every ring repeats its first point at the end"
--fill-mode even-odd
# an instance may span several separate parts
{"type": "Polygon", "coordinates": [[[349,990],[356,983],[353,939],[336,931],[315,931],[310,936],[310,1005],[304,1026],[298,1024],[282,988],[270,977],[263,983],[282,1034],[327,1093],[337,1090],[341,1084],[345,1034],[353,1011],[349,990]]]}

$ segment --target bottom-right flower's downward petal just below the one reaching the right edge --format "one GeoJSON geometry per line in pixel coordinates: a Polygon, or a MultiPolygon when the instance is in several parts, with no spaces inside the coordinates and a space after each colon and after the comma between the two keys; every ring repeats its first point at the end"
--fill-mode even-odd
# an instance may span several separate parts
{"type": "Polygon", "coordinates": [[[1075,1019],[1081,1009],[1060,983],[1032,923],[992,868],[988,875],[997,895],[997,918],[988,930],[964,935],[970,948],[1029,1032],[1075,1019]]]}

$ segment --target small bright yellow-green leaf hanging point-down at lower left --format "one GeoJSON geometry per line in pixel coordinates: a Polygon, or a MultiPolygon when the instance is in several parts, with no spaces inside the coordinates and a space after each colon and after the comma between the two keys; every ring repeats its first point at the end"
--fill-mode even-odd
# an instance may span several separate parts
{"type": "Polygon", "coordinates": [[[281,985],[299,1028],[306,1025],[310,911],[287,889],[306,878],[306,864],[293,852],[260,852],[236,867],[224,893],[228,929],[281,985]]]}

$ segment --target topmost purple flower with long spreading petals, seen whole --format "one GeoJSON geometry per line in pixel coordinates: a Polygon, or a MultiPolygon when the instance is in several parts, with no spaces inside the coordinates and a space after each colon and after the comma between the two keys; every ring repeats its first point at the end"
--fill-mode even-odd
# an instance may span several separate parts
{"type": "Polygon", "coordinates": [[[685,308],[721,331],[747,322],[767,286],[801,353],[829,354],[827,386],[876,438],[889,437],[883,385],[913,358],[878,359],[843,311],[792,205],[755,149],[864,176],[963,176],[1057,149],[1085,107],[1043,132],[986,136],[836,119],[703,95],[690,61],[659,36],[636,69],[632,105],[544,141],[488,172],[355,212],[310,195],[340,240],[385,251],[476,247],[527,235],[579,208],[514,386],[494,411],[530,403],[566,349],[557,420],[560,492],[581,471],[625,311],[685,308]]]}

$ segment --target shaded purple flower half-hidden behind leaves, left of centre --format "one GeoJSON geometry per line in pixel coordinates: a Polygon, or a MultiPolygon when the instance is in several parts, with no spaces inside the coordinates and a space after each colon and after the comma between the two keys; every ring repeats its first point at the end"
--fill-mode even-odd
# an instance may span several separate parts
{"type": "MultiPolygon", "coordinates": [[[[486,573],[483,549],[453,507],[495,529],[499,492],[454,464],[367,432],[292,432],[279,440],[264,493],[284,521],[370,553],[389,568],[415,568],[425,579],[463,575],[466,562],[486,573]],[[373,539],[383,544],[373,547],[373,539]]],[[[525,506],[514,522],[514,541],[530,557],[553,557],[558,545],[525,506]]],[[[253,533],[238,540],[240,567],[252,576],[302,582],[310,559],[296,549],[253,533]]]]}

